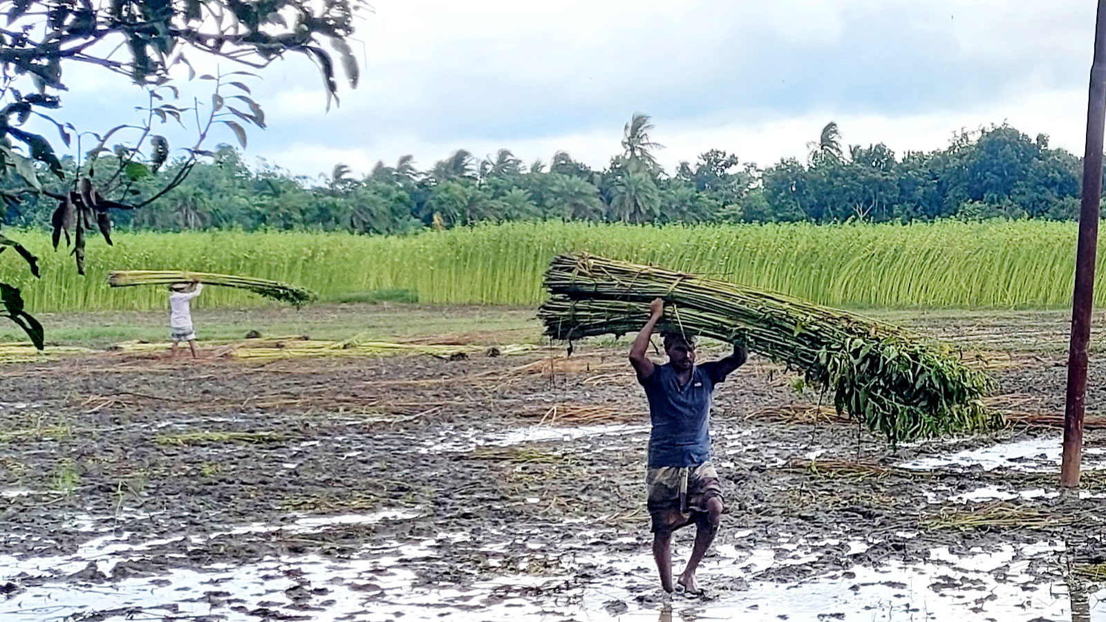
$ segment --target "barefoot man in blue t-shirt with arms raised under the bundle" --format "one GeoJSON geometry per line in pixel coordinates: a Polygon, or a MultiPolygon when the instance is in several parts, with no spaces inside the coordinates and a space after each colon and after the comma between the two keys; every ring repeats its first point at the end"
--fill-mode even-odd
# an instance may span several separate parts
{"type": "Polygon", "coordinates": [[[726,509],[718,473],[710,464],[710,405],[714,386],[740,367],[748,357],[734,344],[733,354],[696,365],[695,338],[665,333],[668,362],[658,365],[646,356],[649,340],[664,315],[665,303],[654,300],[650,317],[629,350],[629,362],[649,401],[649,464],[646,488],[653,519],[653,557],[660,571],[660,585],[672,591],[672,532],[696,525],[695,548],[679,585],[699,593],[695,573],[718,535],[726,509]]]}

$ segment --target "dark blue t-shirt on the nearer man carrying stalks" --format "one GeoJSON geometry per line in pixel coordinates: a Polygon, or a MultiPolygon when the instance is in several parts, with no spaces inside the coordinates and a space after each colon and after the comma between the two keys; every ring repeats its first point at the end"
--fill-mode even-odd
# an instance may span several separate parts
{"type": "Polygon", "coordinates": [[[649,467],[686,467],[710,459],[710,403],[714,385],[722,382],[718,363],[691,369],[691,380],[680,386],[671,363],[656,365],[640,380],[649,400],[649,467]]]}

